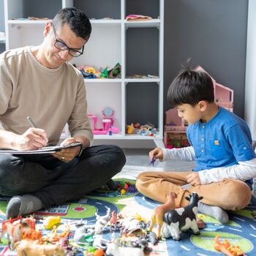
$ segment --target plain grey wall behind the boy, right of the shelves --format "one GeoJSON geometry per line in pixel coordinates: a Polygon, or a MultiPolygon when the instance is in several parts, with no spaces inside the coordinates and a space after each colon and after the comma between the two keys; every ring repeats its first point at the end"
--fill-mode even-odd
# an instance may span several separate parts
{"type": "Polygon", "coordinates": [[[165,0],[165,104],[171,80],[191,57],[234,90],[234,113],[244,117],[248,0],[165,0]]]}

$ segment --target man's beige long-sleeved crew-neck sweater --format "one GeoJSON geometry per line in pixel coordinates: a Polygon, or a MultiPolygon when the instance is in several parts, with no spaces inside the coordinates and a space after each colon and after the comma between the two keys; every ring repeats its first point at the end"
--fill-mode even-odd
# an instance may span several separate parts
{"type": "Polygon", "coordinates": [[[59,142],[66,123],[72,137],[93,140],[83,75],[69,63],[56,69],[42,66],[31,47],[0,55],[1,126],[21,135],[31,127],[27,116],[45,129],[50,144],[59,142]]]}

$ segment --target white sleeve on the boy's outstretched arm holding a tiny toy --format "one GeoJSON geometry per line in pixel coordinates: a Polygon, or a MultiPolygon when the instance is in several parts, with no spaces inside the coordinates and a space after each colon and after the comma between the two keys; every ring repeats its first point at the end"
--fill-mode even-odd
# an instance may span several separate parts
{"type": "Polygon", "coordinates": [[[192,146],[185,148],[162,148],[164,158],[163,160],[185,160],[194,161],[195,151],[192,146]]]}

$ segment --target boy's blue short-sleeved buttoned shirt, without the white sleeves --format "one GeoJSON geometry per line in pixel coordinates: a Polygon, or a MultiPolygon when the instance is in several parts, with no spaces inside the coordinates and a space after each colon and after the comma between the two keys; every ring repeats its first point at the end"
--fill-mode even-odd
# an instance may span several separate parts
{"type": "Polygon", "coordinates": [[[238,161],[256,157],[246,122],[225,108],[219,107],[216,116],[206,123],[190,124],[187,138],[195,151],[195,171],[238,165],[238,161]]]}

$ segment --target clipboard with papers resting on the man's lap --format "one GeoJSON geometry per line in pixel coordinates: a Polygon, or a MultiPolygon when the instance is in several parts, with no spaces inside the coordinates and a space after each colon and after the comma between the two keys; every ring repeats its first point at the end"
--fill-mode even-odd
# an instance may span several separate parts
{"type": "Polygon", "coordinates": [[[43,147],[43,148],[38,148],[36,150],[24,150],[24,151],[0,148],[0,154],[20,154],[20,155],[22,155],[22,154],[51,154],[51,153],[55,153],[57,151],[61,151],[62,149],[65,149],[65,148],[74,148],[77,146],[83,146],[83,144],[80,142],[77,142],[77,143],[71,143],[71,144],[65,145],[65,146],[47,146],[47,147],[43,147]]]}

